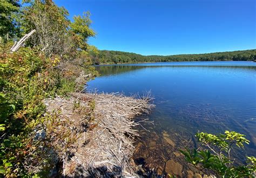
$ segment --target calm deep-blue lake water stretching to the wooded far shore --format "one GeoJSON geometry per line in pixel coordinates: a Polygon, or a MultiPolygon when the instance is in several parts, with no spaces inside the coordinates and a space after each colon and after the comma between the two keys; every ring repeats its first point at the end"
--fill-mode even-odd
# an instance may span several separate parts
{"type": "Polygon", "coordinates": [[[150,147],[151,140],[156,142],[151,146],[156,146],[159,137],[166,135],[171,139],[166,139],[167,143],[174,148],[183,147],[186,141],[197,145],[196,132],[222,133],[228,129],[245,134],[251,141],[243,156],[256,156],[256,63],[173,62],[103,65],[96,69],[100,77],[88,83],[88,91],[125,95],[151,91],[156,108],[146,116],[154,125],[144,125],[153,133],[143,131],[145,148],[150,147]]]}

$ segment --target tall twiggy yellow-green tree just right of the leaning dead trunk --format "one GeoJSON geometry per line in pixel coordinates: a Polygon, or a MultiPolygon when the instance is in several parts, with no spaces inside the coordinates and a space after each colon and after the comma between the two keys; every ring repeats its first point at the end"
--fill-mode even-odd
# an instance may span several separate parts
{"type": "Polygon", "coordinates": [[[37,46],[47,56],[62,55],[69,52],[68,11],[58,7],[51,0],[26,1],[23,9],[22,29],[25,33],[35,29],[30,38],[31,46],[37,46]]]}

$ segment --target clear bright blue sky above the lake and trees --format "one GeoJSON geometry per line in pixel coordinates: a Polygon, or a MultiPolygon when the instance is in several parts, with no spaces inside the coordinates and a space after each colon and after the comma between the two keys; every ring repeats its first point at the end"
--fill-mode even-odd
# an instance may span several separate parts
{"type": "MultiPolygon", "coordinates": [[[[53,0],[54,1],[54,0],[53,0]]],[[[55,0],[91,12],[99,50],[171,55],[256,49],[255,0],[55,0]]]]}

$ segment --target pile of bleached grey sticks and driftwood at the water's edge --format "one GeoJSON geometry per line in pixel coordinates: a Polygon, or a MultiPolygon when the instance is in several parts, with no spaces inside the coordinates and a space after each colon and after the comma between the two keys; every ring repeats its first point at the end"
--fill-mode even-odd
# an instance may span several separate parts
{"type": "MultiPolygon", "coordinates": [[[[62,160],[64,176],[136,176],[132,165],[132,119],[148,113],[150,98],[112,94],[74,93],[70,99],[45,100],[48,113],[56,112],[59,124],[47,135],[62,160]]],[[[52,127],[52,128],[51,128],[52,127]]]]}

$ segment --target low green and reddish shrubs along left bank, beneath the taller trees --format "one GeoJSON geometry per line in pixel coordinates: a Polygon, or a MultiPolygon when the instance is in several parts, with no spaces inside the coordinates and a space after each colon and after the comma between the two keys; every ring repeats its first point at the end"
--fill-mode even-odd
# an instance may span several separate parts
{"type": "Polygon", "coordinates": [[[86,58],[62,61],[29,47],[9,53],[9,47],[1,46],[0,54],[0,173],[21,176],[28,174],[24,158],[41,156],[31,145],[31,132],[44,120],[43,100],[80,90],[86,80],[77,82],[79,74],[92,77],[94,69],[86,58]]]}

